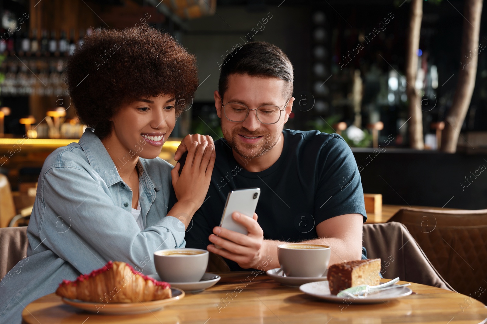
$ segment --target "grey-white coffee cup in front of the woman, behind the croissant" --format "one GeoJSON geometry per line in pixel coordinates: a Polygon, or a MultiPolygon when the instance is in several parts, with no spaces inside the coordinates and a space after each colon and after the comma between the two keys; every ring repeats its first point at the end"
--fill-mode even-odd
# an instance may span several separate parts
{"type": "Polygon", "coordinates": [[[197,282],[208,265],[208,251],[167,249],[154,252],[155,270],[161,280],[173,283],[197,282]]]}

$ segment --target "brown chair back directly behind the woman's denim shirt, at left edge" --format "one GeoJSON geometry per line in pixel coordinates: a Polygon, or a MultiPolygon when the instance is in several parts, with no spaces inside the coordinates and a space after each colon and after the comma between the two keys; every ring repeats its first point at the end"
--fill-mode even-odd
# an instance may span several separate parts
{"type": "Polygon", "coordinates": [[[0,228],[0,279],[27,255],[27,226],[0,228]]]}

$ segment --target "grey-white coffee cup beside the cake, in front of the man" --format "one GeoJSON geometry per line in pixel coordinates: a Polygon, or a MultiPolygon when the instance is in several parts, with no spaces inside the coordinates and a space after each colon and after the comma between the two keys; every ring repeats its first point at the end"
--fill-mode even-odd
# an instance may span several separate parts
{"type": "Polygon", "coordinates": [[[331,248],[321,244],[286,243],[278,246],[282,272],[290,277],[320,277],[328,268],[331,248]]]}

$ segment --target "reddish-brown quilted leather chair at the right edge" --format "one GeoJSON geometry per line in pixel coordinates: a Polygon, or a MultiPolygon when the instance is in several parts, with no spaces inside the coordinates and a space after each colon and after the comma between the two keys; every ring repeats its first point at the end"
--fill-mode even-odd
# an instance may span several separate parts
{"type": "Polygon", "coordinates": [[[406,225],[455,290],[487,304],[487,209],[401,208],[389,222],[406,225]]]}

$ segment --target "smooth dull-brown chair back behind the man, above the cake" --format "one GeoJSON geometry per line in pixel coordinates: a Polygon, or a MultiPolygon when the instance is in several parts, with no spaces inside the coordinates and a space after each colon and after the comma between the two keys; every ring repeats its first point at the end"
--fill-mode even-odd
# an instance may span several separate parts
{"type": "Polygon", "coordinates": [[[453,290],[401,223],[364,224],[363,246],[369,259],[381,259],[384,278],[453,290]]]}

